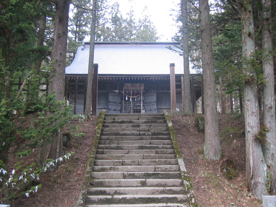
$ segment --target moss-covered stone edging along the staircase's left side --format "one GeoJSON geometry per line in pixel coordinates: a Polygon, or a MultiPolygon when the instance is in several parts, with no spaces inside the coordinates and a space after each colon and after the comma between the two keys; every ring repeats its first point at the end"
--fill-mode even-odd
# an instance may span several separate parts
{"type": "Polygon", "coordinates": [[[86,165],[87,168],[86,168],[85,175],[83,178],[83,186],[81,188],[81,193],[79,196],[79,200],[76,204],[76,207],[85,206],[86,195],[87,195],[88,187],[89,187],[90,181],[91,181],[91,173],[93,171],[98,142],[99,142],[100,134],[102,131],[102,124],[104,122],[104,115],[105,115],[105,110],[102,110],[100,112],[100,114],[98,115],[98,118],[96,121],[97,127],[96,127],[96,134],[95,134],[95,138],[94,138],[94,142],[93,142],[93,147],[92,147],[92,150],[88,154],[87,165],[86,165]]]}

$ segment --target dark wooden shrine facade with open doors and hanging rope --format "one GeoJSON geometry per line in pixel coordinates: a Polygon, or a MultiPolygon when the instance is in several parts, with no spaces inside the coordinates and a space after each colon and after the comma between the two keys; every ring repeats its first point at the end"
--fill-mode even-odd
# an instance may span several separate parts
{"type": "MultiPolygon", "coordinates": [[[[170,75],[99,74],[97,80],[97,115],[103,109],[106,113],[162,113],[163,109],[171,112],[170,75]]],[[[200,75],[191,76],[194,113],[201,97],[201,84],[200,75]]],[[[175,86],[176,108],[182,113],[183,75],[175,75],[175,86]]],[[[65,76],[65,96],[74,105],[73,113],[83,113],[86,93],[87,75],[65,76]]]]}

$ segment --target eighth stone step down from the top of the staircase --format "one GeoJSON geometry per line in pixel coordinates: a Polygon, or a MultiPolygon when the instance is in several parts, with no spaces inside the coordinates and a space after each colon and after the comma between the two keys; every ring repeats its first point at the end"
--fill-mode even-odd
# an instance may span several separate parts
{"type": "Polygon", "coordinates": [[[172,145],[171,140],[135,140],[135,141],[117,141],[117,140],[99,140],[100,145],[137,145],[137,144],[157,144],[157,145],[172,145]]]}

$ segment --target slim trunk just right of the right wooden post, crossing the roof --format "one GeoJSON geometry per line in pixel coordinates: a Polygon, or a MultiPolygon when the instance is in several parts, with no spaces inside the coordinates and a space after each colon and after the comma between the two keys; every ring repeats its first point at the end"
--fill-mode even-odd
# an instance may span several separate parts
{"type": "Polygon", "coordinates": [[[190,68],[189,68],[189,47],[188,47],[188,4],[187,0],[181,0],[181,18],[182,18],[182,42],[183,42],[183,60],[184,60],[184,107],[183,114],[190,116],[193,114],[191,105],[190,90],[190,68]]]}

